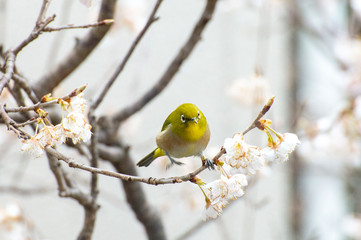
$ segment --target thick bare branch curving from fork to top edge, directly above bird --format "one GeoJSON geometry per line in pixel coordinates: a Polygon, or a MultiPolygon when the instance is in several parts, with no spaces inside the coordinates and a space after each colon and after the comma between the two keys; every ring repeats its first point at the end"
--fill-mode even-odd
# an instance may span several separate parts
{"type": "Polygon", "coordinates": [[[141,110],[146,104],[148,104],[154,97],[156,97],[163,89],[168,85],[168,83],[173,79],[174,75],[178,72],[183,62],[189,57],[190,53],[193,51],[194,47],[197,45],[199,40],[201,39],[201,35],[207,25],[207,23],[211,20],[217,0],[208,0],[207,5],[202,13],[202,16],[196,23],[192,34],[190,35],[187,42],[183,45],[183,47],[178,52],[177,56],[168,66],[167,70],[164,72],[162,77],[158,80],[158,82],[148,91],[146,92],[138,101],[133,103],[132,105],[126,107],[125,109],[116,113],[112,120],[113,122],[120,123],[133,115],[134,113],[141,110]]]}

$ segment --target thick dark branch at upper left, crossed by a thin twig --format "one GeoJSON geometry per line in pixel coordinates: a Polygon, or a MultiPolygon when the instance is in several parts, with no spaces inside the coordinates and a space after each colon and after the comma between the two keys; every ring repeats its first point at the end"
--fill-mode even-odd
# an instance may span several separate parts
{"type": "MultiPolygon", "coordinates": [[[[103,0],[99,10],[98,21],[113,19],[116,0],[103,0]]],[[[69,74],[71,74],[95,49],[108,32],[110,26],[92,28],[89,33],[75,45],[69,55],[55,69],[39,79],[33,89],[37,96],[50,93],[69,74]]]]}

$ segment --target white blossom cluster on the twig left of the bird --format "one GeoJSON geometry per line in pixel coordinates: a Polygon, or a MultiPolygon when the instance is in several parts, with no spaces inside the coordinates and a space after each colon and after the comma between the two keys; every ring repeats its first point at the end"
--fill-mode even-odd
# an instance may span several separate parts
{"type": "Polygon", "coordinates": [[[55,126],[52,125],[46,116],[44,117],[47,113],[39,109],[37,112],[40,117],[35,135],[30,139],[23,140],[24,145],[21,150],[29,152],[34,158],[42,156],[46,146],[62,144],[67,139],[71,139],[74,144],[77,144],[80,141],[86,142],[91,137],[91,125],[86,119],[83,93],[66,101],[58,99],[58,103],[61,105],[63,113],[66,113],[62,121],[55,126]],[[44,127],[38,130],[41,124],[44,127]]]}

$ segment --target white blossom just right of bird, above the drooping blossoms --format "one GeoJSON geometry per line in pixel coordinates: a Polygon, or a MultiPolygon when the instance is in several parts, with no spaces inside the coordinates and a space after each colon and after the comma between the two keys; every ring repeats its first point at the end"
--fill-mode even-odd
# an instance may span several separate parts
{"type": "Polygon", "coordinates": [[[227,138],[223,147],[226,153],[224,162],[245,174],[255,174],[264,166],[264,159],[258,147],[244,141],[243,135],[238,133],[233,138],[227,138]]]}

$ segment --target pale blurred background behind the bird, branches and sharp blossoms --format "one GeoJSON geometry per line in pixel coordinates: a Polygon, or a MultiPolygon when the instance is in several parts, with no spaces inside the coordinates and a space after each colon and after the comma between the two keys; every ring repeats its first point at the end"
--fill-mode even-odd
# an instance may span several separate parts
{"type": "MultiPolygon", "coordinates": [[[[40,0],[0,0],[0,44],[18,45],[32,31],[40,0]]],[[[53,94],[64,96],[88,83],[85,98],[99,94],[142,29],[155,1],[118,0],[110,33],[53,94]]],[[[204,0],[165,0],[97,114],[112,114],[137,100],[165,71],[188,38],[204,0]]],[[[53,1],[51,26],[96,21],[100,1],[53,1]]],[[[285,164],[261,171],[244,197],[216,220],[203,222],[204,197],[191,183],[143,184],[160,213],[169,239],[361,239],[361,1],[219,0],[201,42],[167,88],[122,125],[119,135],[138,159],[154,149],[164,119],[192,102],[211,128],[206,155],[224,139],[244,131],[267,100],[266,117],[279,132],[297,133],[302,144],[285,164]]],[[[43,33],[17,58],[18,70],[36,81],[66,56],[86,30],[43,33]]],[[[1,102],[11,105],[10,96],[1,102]]],[[[83,211],[60,198],[45,158],[31,159],[21,142],[1,125],[0,239],[74,239],[83,211]]],[[[258,130],[246,140],[260,147],[258,130]]],[[[59,148],[79,159],[75,150],[59,148]]],[[[144,177],[183,175],[199,167],[165,170],[166,159],[139,169],[144,177]]],[[[100,168],[112,170],[106,162],[100,168]]],[[[89,174],[67,169],[79,187],[89,174]]],[[[211,181],[210,171],[201,174],[211,181]]],[[[99,176],[99,204],[93,239],[146,239],[128,207],[119,181],[99,176]]]]}

